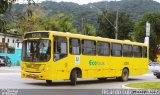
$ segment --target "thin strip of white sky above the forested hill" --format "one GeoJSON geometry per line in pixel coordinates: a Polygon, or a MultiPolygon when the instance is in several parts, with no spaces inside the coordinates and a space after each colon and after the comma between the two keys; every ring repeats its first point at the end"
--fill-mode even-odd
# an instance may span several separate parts
{"type": "MultiPolygon", "coordinates": [[[[24,1],[27,0],[17,0],[19,3],[24,3],[24,1]]],[[[99,2],[99,1],[116,1],[116,0],[34,0],[35,2],[42,2],[42,1],[56,1],[56,2],[74,2],[78,4],[87,4],[87,3],[93,3],[93,2],[99,2]]],[[[119,1],[119,0],[117,0],[119,1]]],[[[160,0],[154,0],[160,2],[160,0]]]]}

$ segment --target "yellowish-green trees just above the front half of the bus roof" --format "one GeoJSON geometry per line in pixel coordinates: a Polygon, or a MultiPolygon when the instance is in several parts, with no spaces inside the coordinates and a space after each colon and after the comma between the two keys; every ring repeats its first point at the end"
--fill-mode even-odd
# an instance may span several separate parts
{"type": "Polygon", "coordinates": [[[32,17],[29,17],[27,19],[22,19],[16,25],[16,28],[21,34],[25,32],[38,31],[38,30],[77,33],[76,29],[73,28],[71,22],[72,21],[68,16],[64,17],[53,16],[50,18],[43,18],[33,13],[32,17]]]}

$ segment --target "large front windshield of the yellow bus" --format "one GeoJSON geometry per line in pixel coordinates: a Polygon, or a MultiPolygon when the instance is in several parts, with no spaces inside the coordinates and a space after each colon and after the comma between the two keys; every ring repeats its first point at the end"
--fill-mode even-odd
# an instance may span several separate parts
{"type": "Polygon", "coordinates": [[[23,61],[47,62],[51,56],[49,40],[26,40],[23,42],[23,61]]]}

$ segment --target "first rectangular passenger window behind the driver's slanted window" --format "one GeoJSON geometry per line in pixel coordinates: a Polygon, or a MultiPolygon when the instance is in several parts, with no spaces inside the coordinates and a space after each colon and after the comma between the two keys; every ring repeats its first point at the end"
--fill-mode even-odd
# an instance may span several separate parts
{"type": "Polygon", "coordinates": [[[80,39],[70,38],[70,54],[80,54],[80,39]]]}

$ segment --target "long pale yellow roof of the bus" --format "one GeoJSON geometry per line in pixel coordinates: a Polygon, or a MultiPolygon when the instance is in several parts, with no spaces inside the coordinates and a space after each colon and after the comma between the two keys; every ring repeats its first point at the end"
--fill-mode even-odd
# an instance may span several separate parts
{"type": "MultiPolygon", "coordinates": [[[[74,33],[69,33],[69,32],[32,31],[32,32],[27,32],[27,33],[35,33],[35,32],[49,32],[51,35],[56,35],[56,36],[67,36],[67,37],[71,37],[71,38],[80,38],[80,39],[88,39],[88,40],[108,41],[108,42],[113,42],[113,43],[123,43],[123,44],[148,46],[145,43],[132,42],[130,40],[117,40],[117,39],[103,38],[103,37],[99,37],[99,36],[88,36],[88,35],[82,35],[82,34],[74,34],[74,33]]],[[[27,34],[27,33],[25,33],[25,34],[27,34]]]]}

